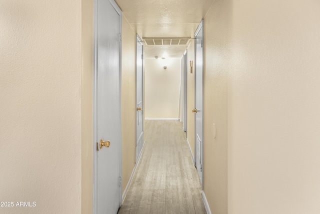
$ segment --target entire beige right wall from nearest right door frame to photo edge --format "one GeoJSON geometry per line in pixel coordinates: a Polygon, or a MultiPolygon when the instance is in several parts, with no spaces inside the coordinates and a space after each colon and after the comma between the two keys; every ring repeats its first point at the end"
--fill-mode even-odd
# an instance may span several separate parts
{"type": "Polygon", "coordinates": [[[319,10],[318,1],[216,0],[205,16],[212,213],[320,211],[319,10]]]}

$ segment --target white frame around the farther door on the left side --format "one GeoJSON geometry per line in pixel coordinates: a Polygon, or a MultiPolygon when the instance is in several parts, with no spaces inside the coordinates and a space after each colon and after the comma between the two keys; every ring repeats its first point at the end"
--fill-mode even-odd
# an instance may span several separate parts
{"type": "MultiPolygon", "coordinates": [[[[141,110],[141,114],[142,114],[142,121],[141,121],[141,125],[142,125],[142,147],[143,147],[143,135],[144,135],[144,132],[143,132],[143,118],[144,118],[144,109],[143,109],[143,106],[144,106],[144,100],[143,100],[143,42],[141,40],[141,38],[139,37],[138,34],[136,34],[136,41],[135,41],[135,102],[137,101],[137,48],[138,48],[138,43],[141,43],[142,44],[142,65],[141,65],[141,75],[142,75],[142,79],[141,79],[141,89],[142,89],[142,110],[141,110]]],[[[136,103],[137,104],[137,103],[136,103]]],[[[135,122],[138,120],[138,114],[135,114],[136,115],[136,118],[135,118],[135,122]]],[[[137,136],[137,126],[135,126],[135,143],[137,143],[137,140],[138,140],[138,137],[137,136]]],[[[140,156],[141,156],[141,151],[142,151],[142,147],[141,147],[141,150],[139,151],[139,154],[138,154],[138,157],[135,157],[135,164],[137,163],[137,161],[139,160],[140,156]]],[[[136,149],[136,148],[135,148],[136,149]]],[[[136,152],[135,152],[136,154],[136,152]]]]}

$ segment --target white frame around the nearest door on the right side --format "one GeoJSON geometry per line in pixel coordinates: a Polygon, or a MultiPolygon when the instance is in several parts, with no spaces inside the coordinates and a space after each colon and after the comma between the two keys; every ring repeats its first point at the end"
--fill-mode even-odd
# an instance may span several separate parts
{"type": "MultiPolygon", "coordinates": [[[[196,28],[196,31],[194,32],[194,38],[196,40],[196,37],[198,35],[198,33],[200,32],[200,30],[202,30],[202,42],[204,41],[204,32],[203,32],[203,19],[201,20],[200,24],[198,25],[198,27],[196,28]]],[[[204,44],[204,42],[203,42],[204,44]]],[[[200,154],[201,154],[201,163],[202,163],[202,171],[201,171],[201,186],[202,186],[202,189],[203,189],[203,175],[204,175],[204,164],[203,164],[203,70],[204,70],[204,47],[202,47],[202,118],[201,118],[201,123],[202,123],[202,130],[201,130],[201,151],[200,151],[200,154]]],[[[194,84],[196,84],[196,72],[198,72],[196,70],[196,42],[194,42],[194,84]]],[[[194,107],[196,108],[196,86],[194,85],[194,107]]],[[[196,153],[197,153],[197,149],[196,149],[196,117],[194,115],[194,165],[196,165],[196,153]]]]}

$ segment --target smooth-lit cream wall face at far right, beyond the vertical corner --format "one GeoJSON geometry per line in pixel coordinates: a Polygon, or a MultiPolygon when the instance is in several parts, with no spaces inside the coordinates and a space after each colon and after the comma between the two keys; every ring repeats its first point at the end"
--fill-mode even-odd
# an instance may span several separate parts
{"type": "Polygon", "coordinates": [[[320,212],[319,11],[233,0],[229,213],[320,212]]]}

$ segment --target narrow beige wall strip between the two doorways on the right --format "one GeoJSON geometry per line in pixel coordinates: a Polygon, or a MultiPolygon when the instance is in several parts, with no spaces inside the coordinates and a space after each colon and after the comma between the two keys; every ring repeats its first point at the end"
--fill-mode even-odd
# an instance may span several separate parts
{"type": "Polygon", "coordinates": [[[192,109],[194,109],[194,40],[191,40],[190,44],[187,47],[187,99],[186,99],[186,138],[188,139],[192,155],[194,158],[194,113],[192,109]],[[192,66],[192,74],[190,73],[190,61],[193,61],[192,66]]]}

